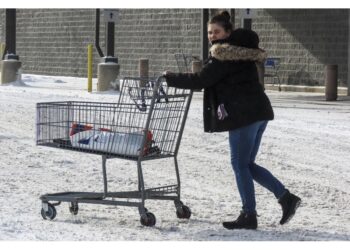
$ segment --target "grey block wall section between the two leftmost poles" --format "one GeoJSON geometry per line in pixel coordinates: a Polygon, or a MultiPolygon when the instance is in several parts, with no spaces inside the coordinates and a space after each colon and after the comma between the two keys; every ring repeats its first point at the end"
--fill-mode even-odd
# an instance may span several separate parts
{"type": "MultiPolygon", "coordinates": [[[[87,45],[94,43],[94,24],[94,10],[17,9],[17,54],[22,71],[86,76],[87,45]]],[[[94,58],[98,62],[96,51],[94,58]]]]}

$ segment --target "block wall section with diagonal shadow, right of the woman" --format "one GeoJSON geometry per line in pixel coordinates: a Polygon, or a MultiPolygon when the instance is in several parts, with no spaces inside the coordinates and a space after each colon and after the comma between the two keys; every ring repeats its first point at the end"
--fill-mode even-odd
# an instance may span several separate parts
{"type": "Polygon", "coordinates": [[[324,85],[325,65],[338,64],[338,84],[346,86],[347,9],[259,10],[253,29],[269,56],[281,57],[282,83],[324,85]]]}

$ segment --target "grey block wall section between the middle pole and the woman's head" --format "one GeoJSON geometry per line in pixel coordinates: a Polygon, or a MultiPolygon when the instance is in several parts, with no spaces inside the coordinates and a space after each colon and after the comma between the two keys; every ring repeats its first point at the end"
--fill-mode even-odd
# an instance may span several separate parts
{"type": "Polygon", "coordinates": [[[124,76],[138,75],[138,59],[149,74],[176,71],[174,53],[200,55],[199,9],[123,9],[116,26],[116,54],[124,76]]]}

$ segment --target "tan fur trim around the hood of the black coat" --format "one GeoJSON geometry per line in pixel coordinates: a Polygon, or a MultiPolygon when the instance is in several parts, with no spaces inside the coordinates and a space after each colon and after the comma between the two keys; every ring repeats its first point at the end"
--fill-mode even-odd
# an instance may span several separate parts
{"type": "Polygon", "coordinates": [[[210,48],[211,56],[219,61],[257,61],[263,62],[267,54],[262,49],[251,49],[230,45],[229,43],[214,44],[210,48]]]}

